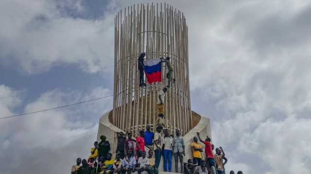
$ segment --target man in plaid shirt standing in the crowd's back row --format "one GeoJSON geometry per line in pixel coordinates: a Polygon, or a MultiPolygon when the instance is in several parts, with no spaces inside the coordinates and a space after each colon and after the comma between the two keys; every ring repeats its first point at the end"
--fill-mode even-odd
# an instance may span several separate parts
{"type": "Polygon", "coordinates": [[[173,154],[175,160],[175,172],[178,173],[178,158],[180,162],[180,170],[183,173],[184,169],[184,156],[185,154],[185,143],[184,138],[180,136],[180,131],[176,129],[176,136],[173,138],[173,154]]]}

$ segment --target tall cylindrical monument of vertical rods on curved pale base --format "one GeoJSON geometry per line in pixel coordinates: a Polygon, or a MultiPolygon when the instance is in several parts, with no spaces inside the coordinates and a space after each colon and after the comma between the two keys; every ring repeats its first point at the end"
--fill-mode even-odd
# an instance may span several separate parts
{"type": "Polygon", "coordinates": [[[201,137],[211,137],[211,129],[207,117],[191,111],[185,15],[166,3],[137,4],[121,10],[115,17],[114,27],[113,108],[100,118],[98,139],[106,135],[111,153],[115,154],[116,132],[128,131],[137,136],[146,125],[155,131],[157,96],[158,91],[168,85],[167,69],[162,65],[161,82],[140,87],[138,56],[145,52],[147,60],[170,57],[175,82],[164,98],[165,128],[170,134],[174,134],[175,129],[180,130],[186,144],[185,158],[191,158],[190,143],[196,132],[200,132],[201,137]]]}

